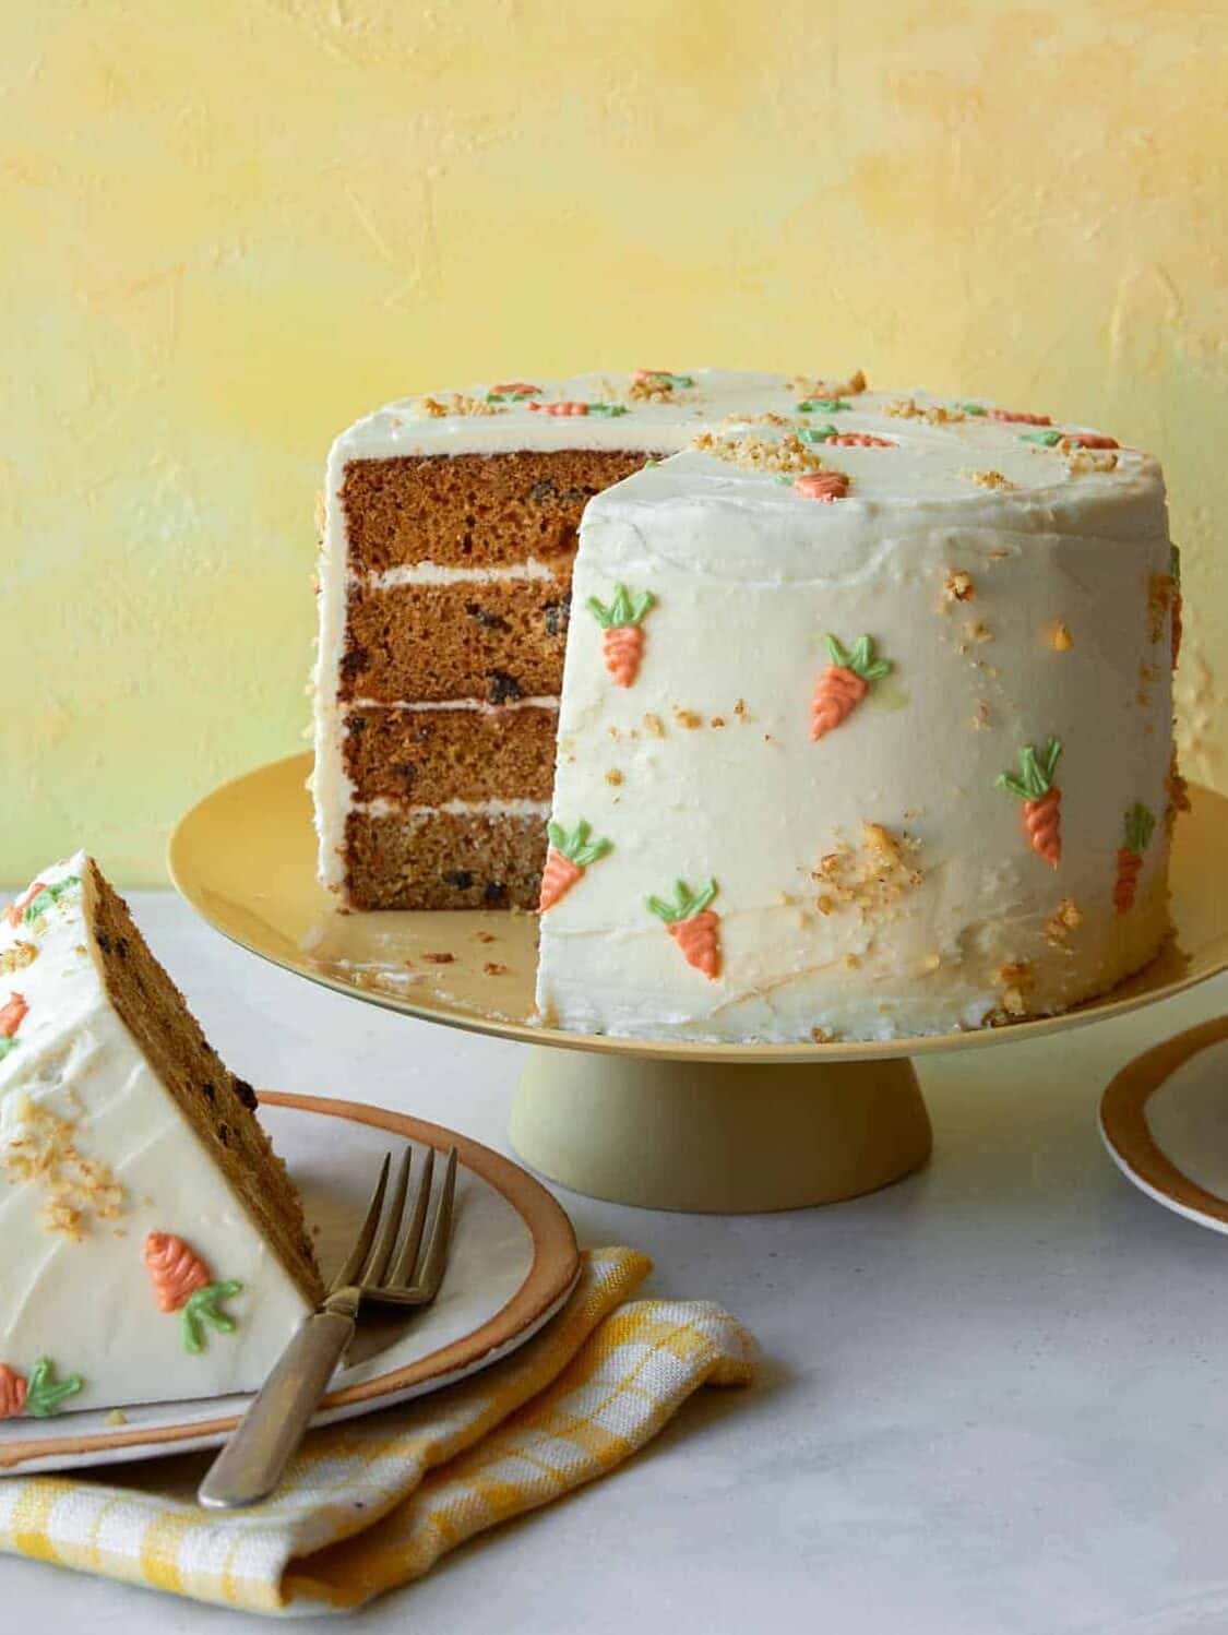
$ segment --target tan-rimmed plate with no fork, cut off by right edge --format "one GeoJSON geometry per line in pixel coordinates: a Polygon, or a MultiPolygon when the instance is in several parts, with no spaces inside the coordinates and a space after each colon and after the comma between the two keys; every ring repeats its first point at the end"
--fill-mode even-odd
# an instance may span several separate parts
{"type": "Polygon", "coordinates": [[[1228,1017],[1136,1056],[1104,1092],[1100,1135],[1133,1184],[1228,1233],[1228,1017]]]}

